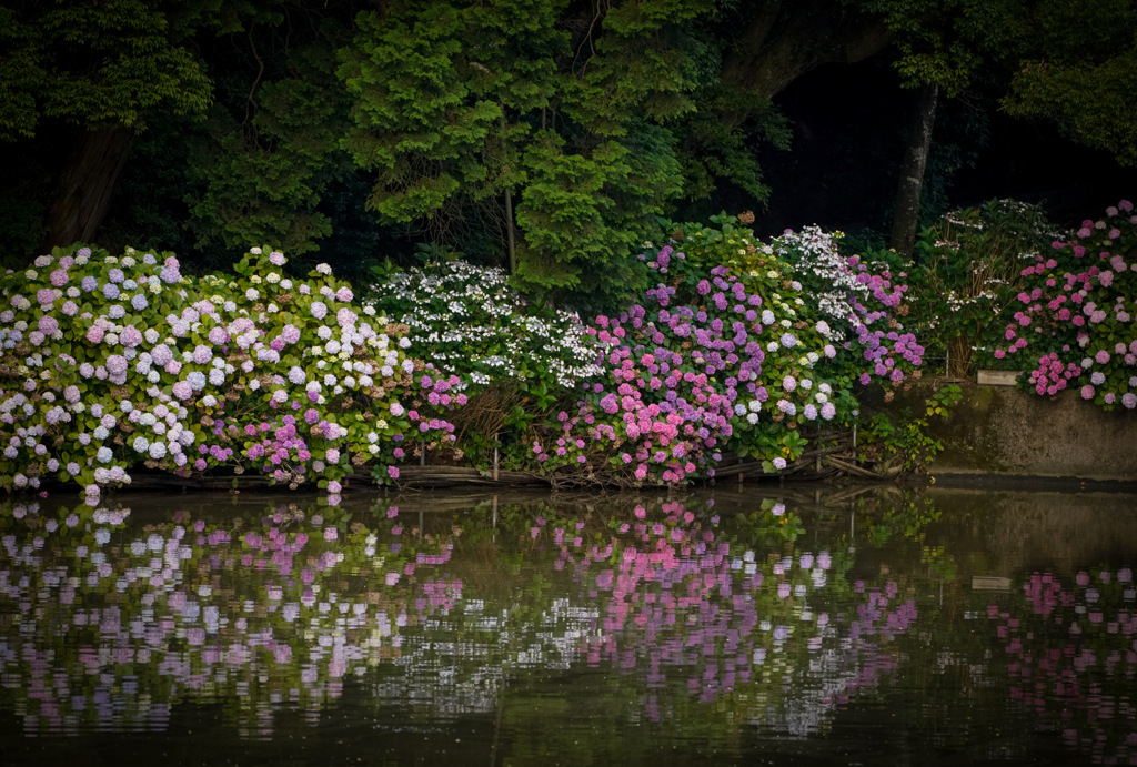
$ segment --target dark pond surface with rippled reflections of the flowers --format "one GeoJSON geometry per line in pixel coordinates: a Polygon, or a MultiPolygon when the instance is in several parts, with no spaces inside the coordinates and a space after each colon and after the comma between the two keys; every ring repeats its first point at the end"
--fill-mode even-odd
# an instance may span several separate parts
{"type": "Polygon", "coordinates": [[[1137,498],[0,507],[5,765],[1137,764],[1137,498]]]}

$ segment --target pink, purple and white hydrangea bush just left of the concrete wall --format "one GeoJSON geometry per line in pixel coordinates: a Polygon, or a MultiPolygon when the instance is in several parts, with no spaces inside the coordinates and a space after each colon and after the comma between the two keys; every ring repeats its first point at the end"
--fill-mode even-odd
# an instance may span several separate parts
{"type": "Polygon", "coordinates": [[[803,452],[803,427],[855,407],[854,381],[896,384],[920,365],[896,319],[905,287],[887,272],[818,230],[764,244],[717,223],[644,256],[656,286],[596,318],[605,380],[533,440],[531,465],[674,483],[713,476],[730,450],[778,470],[803,452]]]}

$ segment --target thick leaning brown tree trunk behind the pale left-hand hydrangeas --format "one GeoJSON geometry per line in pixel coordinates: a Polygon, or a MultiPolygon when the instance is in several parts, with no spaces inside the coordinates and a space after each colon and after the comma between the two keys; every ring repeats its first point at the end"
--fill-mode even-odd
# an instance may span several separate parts
{"type": "Polygon", "coordinates": [[[48,219],[44,250],[88,242],[102,223],[134,143],[131,128],[89,131],[64,169],[48,219]]]}

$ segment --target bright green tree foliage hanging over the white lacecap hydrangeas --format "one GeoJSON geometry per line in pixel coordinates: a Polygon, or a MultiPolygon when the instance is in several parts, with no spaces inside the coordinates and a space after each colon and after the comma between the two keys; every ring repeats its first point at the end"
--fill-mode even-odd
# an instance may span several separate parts
{"type": "Polygon", "coordinates": [[[382,220],[450,244],[473,220],[496,241],[480,258],[498,262],[513,231],[529,290],[624,297],[632,247],[682,189],[666,123],[692,109],[680,23],[703,8],[620,3],[587,26],[575,12],[438,1],[360,15],[341,50],[345,145],[375,173],[382,220]]]}

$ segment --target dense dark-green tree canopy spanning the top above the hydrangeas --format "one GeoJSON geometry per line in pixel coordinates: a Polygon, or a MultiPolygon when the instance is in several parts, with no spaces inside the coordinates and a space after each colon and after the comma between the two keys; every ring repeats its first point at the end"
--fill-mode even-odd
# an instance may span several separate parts
{"type": "MultiPolygon", "coordinates": [[[[661,219],[786,193],[758,159],[795,150],[779,99],[831,65],[890,67],[888,102],[936,89],[936,125],[1001,103],[1137,164],[1135,33],[1128,0],[19,0],[0,258],[130,237],[192,268],[271,241],[350,273],[425,241],[611,300],[661,219]]],[[[862,119],[901,145],[903,112],[862,119]]],[[[935,133],[916,150],[935,167],[935,133]]]]}

